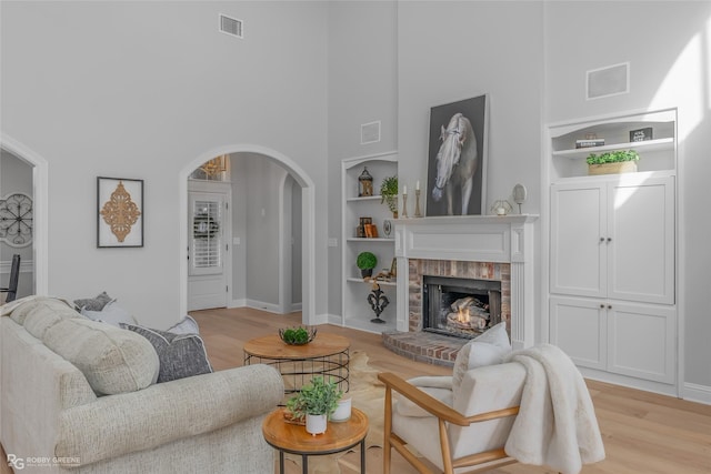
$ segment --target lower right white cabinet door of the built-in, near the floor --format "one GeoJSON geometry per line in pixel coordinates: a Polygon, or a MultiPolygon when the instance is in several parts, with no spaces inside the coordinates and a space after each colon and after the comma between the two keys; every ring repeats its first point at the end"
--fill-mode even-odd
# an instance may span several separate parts
{"type": "Polygon", "coordinates": [[[670,306],[610,302],[610,372],[674,383],[675,311],[670,306]]]}

